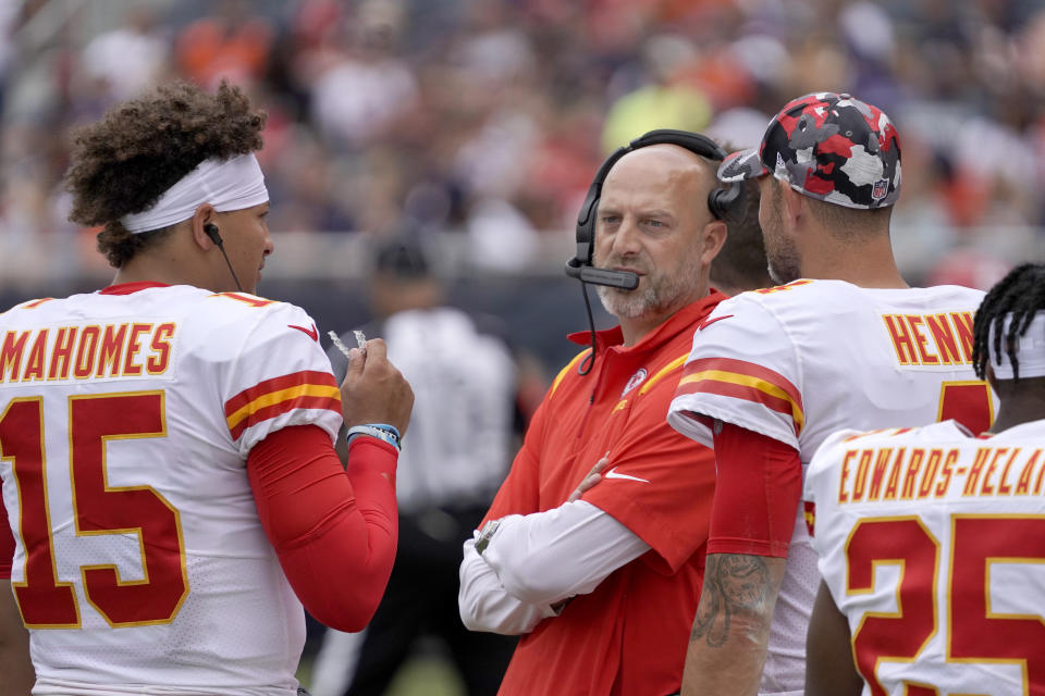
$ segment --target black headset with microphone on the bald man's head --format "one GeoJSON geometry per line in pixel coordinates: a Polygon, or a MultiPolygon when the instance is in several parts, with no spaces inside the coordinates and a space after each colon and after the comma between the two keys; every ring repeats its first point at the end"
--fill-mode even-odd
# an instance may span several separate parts
{"type": "MultiPolygon", "coordinates": [[[[602,197],[602,185],[610,174],[610,170],[628,152],[634,152],[640,148],[651,145],[677,145],[686,148],[694,154],[705,157],[710,160],[723,160],[727,152],[722,149],[717,142],[711,138],[690,133],[688,130],[674,130],[671,128],[661,128],[650,130],[646,135],[631,140],[628,145],[617,148],[613,154],[606,158],[599,171],[595,172],[595,178],[588,187],[588,195],[577,214],[577,256],[566,262],[566,275],[579,278],[583,283],[593,285],[608,285],[626,290],[634,290],[639,284],[639,276],[626,271],[611,271],[607,269],[595,269],[592,265],[592,254],[594,253],[595,240],[595,219],[599,209],[599,199],[602,197]]],[[[708,194],[708,210],[716,220],[725,217],[726,213],[733,208],[740,198],[742,187],[738,183],[728,184],[725,187],[713,188],[708,194]]]]}

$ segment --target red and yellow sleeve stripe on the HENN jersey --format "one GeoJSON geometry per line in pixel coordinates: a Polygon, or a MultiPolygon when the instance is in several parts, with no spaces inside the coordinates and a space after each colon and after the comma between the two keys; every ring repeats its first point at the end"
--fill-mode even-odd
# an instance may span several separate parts
{"type": "Polygon", "coordinates": [[[806,424],[802,395],[798,388],[778,372],[746,360],[694,360],[686,365],[676,394],[715,394],[761,403],[791,417],[796,435],[806,424]]]}

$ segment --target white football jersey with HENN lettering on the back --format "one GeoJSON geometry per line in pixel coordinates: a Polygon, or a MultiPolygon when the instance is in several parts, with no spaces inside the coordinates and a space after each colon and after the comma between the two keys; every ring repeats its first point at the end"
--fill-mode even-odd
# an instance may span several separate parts
{"type": "MultiPolygon", "coordinates": [[[[986,430],[993,395],[972,370],[972,315],[983,293],[957,286],[861,288],[800,279],[722,302],[693,336],[668,422],[711,447],[703,414],[798,450],[803,468],[843,427],[956,418],[986,430]]],[[[801,693],[816,557],[798,519],[762,693],[801,693]]]]}

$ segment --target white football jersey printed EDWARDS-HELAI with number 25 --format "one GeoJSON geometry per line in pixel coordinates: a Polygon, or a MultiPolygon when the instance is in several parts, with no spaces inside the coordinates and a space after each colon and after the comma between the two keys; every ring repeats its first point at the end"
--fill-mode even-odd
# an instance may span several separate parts
{"type": "Polygon", "coordinates": [[[1043,484],[1045,421],[824,443],[813,545],[864,694],[1045,694],[1043,484]]]}

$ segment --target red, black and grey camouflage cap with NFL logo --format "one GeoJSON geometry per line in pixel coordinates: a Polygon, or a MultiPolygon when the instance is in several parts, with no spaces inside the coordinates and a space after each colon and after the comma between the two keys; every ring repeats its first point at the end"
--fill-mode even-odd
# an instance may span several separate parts
{"type": "Polygon", "coordinates": [[[718,167],[727,183],[764,174],[846,208],[885,208],[900,196],[899,135],[884,112],[849,95],[806,95],[773,117],[760,148],[718,167]]]}

